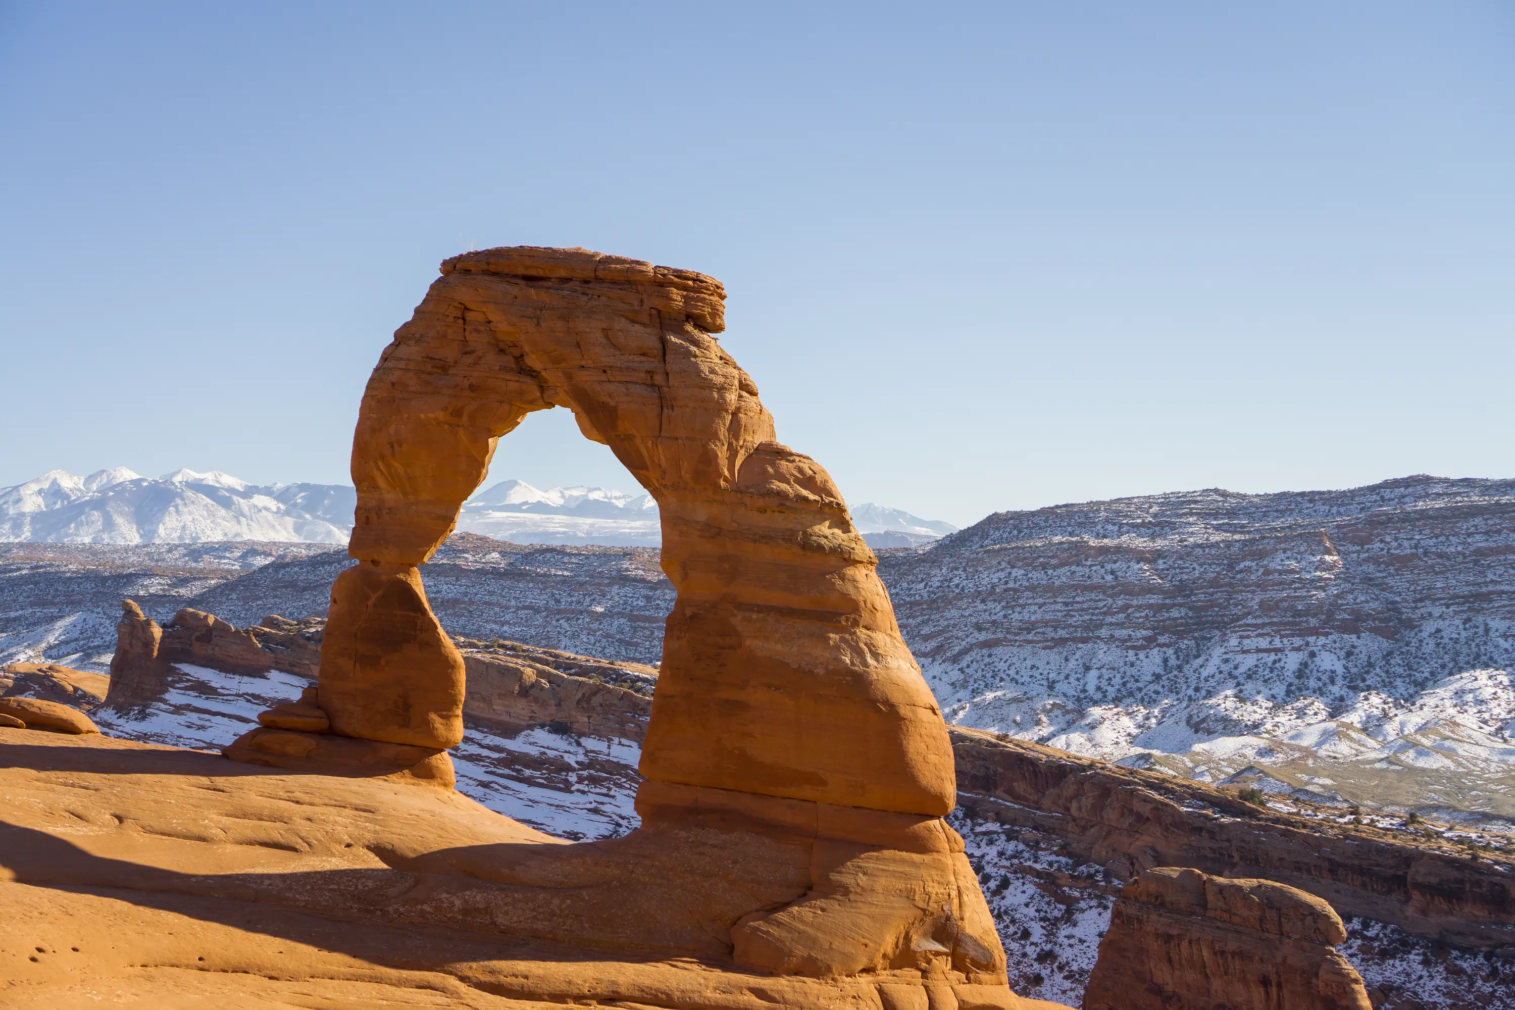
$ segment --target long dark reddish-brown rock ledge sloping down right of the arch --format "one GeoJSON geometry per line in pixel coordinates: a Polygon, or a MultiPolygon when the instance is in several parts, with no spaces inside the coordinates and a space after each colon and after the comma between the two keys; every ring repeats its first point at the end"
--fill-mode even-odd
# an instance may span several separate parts
{"type": "Polygon", "coordinates": [[[1080,862],[1123,880],[1154,866],[1262,877],[1433,940],[1515,948],[1509,862],[1262,810],[1221,789],[1027,740],[954,728],[953,742],[967,810],[1062,837],[1080,862]]]}

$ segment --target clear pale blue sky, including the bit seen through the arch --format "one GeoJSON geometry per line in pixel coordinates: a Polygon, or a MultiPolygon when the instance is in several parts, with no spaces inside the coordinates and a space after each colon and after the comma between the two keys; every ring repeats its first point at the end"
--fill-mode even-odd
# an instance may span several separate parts
{"type": "MultiPolygon", "coordinates": [[[[347,482],[436,263],[720,277],[853,503],[1515,474],[1509,3],[5,3],[0,485],[347,482]]],[[[491,479],[629,475],[565,412],[491,479]]]]}

